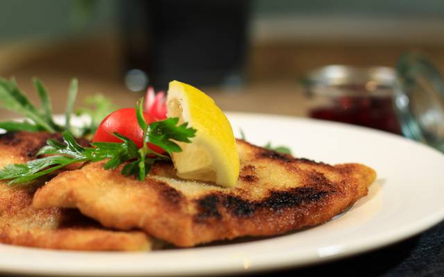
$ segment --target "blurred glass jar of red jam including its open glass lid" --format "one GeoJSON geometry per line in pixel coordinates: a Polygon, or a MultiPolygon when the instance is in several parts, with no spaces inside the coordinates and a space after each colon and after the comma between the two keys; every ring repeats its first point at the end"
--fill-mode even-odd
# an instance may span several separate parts
{"type": "Polygon", "coordinates": [[[396,68],[332,65],[302,80],[309,116],[427,143],[444,152],[444,81],[418,53],[404,53],[396,68]]]}

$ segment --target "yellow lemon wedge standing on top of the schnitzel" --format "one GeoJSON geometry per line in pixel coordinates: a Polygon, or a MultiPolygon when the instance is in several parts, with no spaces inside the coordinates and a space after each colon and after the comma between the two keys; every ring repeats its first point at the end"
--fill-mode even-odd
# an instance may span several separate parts
{"type": "Polygon", "coordinates": [[[212,181],[234,187],[239,177],[239,154],[232,127],[212,98],[183,82],[171,81],[167,116],[178,117],[197,129],[191,143],[180,143],[182,152],[172,154],[178,177],[212,181]]]}

